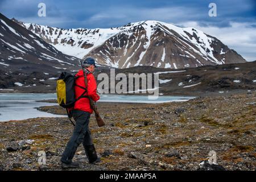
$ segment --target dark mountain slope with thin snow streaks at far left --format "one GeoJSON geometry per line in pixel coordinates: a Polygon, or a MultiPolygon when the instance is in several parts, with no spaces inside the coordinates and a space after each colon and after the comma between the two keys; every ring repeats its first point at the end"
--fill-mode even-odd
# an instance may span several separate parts
{"type": "Polygon", "coordinates": [[[0,14],[0,67],[5,71],[57,72],[74,69],[76,57],[64,55],[38,36],[0,14]]]}

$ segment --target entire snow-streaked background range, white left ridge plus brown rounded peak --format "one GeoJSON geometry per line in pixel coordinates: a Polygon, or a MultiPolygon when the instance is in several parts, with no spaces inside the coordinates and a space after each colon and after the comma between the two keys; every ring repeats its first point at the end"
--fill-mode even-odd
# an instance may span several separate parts
{"type": "Polygon", "coordinates": [[[14,21],[67,55],[94,57],[97,63],[115,68],[150,65],[178,69],[246,62],[213,36],[164,22],[148,20],[115,28],[63,29],[14,21]]]}

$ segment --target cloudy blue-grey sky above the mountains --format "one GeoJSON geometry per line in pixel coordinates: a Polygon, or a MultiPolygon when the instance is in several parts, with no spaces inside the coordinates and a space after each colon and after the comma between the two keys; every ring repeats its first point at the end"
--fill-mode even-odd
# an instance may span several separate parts
{"type": "Polygon", "coordinates": [[[220,39],[247,61],[256,60],[256,0],[0,0],[0,13],[26,23],[60,28],[109,28],[142,20],[195,27],[220,39]],[[38,4],[46,4],[46,17],[38,4]],[[210,17],[209,3],[217,16],[210,17]]]}

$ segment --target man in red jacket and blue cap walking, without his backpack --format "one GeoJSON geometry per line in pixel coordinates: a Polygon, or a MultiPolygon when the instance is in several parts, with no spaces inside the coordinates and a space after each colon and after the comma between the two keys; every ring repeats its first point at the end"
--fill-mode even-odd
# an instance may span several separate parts
{"type": "Polygon", "coordinates": [[[76,76],[75,84],[75,96],[76,99],[84,93],[83,88],[87,88],[87,92],[84,94],[84,97],[80,98],[75,102],[75,106],[71,110],[71,114],[76,121],[75,129],[73,130],[72,137],[69,139],[67,146],[61,157],[61,167],[62,168],[77,168],[79,163],[72,162],[73,156],[77,150],[77,147],[82,143],[84,146],[85,154],[89,159],[89,163],[95,164],[100,162],[100,159],[97,157],[95,147],[90,137],[89,130],[89,118],[90,114],[93,113],[93,110],[90,107],[89,98],[92,98],[93,101],[98,101],[100,96],[98,96],[96,80],[93,76],[94,69],[96,68],[95,61],[92,58],[87,58],[82,62],[82,67],[85,68],[87,75],[87,86],[85,86],[84,72],[81,69],[76,76]],[[80,88],[81,87],[81,88],[80,88]]]}

